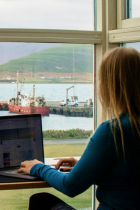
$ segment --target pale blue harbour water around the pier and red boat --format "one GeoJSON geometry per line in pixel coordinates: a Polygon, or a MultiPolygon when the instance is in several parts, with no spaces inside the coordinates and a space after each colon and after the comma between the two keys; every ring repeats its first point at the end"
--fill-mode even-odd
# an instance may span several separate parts
{"type": "MultiPolygon", "coordinates": [[[[61,101],[66,98],[66,88],[72,84],[35,84],[35,93],[38,96],[44,96],[46,101],[61,101]]],[[[22,93],[32,94],[32,84],[24,84],[21,88],[22,93]]],[[[68,97],[77,95],[79,101],[85,102],[87,99],[93,99],[92,84],[76,84],[68,92],[68,97]]],[[[20,85],[19,85],[20,90],[20,85]]],[[[11,97],[16,97],[16,84],[0,84],[0,101],[8,101],[11,97]]],[[[0,115],[9,115],[8,111],[0,111],[0,115]]],[[[43,130],[68,130],[79,128],[84,130],[93,129],[93,118],[88,117],[68,117],[64,115],[53,115],[42,117],[43,130]]]]}

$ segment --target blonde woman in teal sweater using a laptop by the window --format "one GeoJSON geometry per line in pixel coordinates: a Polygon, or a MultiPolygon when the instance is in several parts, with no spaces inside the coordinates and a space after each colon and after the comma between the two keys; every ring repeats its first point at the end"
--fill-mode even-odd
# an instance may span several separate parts
{"type": "MultiPolygon", "coordinates": [[[[74,197],[96,184],[98,210],[138,210],[140,198],[140,54],[133,48],[106,53],[99,68],[99,98],[103,122],[80,160],[61,159],[74,166],[69,174],[37,160],[21,163],[19,172],[39,176],[74,197]]],[[[47,206],[47,201],[46,206],[47,206]]],[[[46,208],[47,209],[47,208],[46,208]]],[[[64,208],[66,209],[66,208],[64,208]]]]}

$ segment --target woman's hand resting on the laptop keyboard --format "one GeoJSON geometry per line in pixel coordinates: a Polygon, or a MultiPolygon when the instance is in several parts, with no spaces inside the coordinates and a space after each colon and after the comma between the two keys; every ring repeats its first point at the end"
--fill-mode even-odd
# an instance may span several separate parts
{"type": "MultiPolygon", "coordinates": [[[[21,162],[20,164],[20,168],[18,169],[18,173],[21,173],[21,172],[25,172],[27,174],[30,174],[30,170],[31,168],[37,164],[37,163],[42,163],[41,161],[39,160],[30,160],[30,161],[24,161],[24,162],[21,162]]],[[[42,163],[43,164],[43,163],[42,163]]]]}

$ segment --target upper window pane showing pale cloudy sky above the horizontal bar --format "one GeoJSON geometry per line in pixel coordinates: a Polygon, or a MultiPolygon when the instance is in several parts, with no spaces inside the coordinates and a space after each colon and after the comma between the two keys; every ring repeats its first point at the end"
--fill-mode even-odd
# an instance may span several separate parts
{"type": "Polygon", "coordinates": [[[1,0],[0,28],[93,30],[93,0],[1,0]]]}

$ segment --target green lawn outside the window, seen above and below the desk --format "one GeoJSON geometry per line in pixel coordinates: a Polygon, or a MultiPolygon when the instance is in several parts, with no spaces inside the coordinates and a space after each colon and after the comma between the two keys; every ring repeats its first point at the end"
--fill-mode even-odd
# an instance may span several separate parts
{"type": "MultiPolygon", "coordinates": [[[[85,147],[85,144],[45,145],[44,154],[45,157],[80,156],[85,147]]],[[[29,197],[37,192],[52,193],[76,209],[91,207],[92,188],[75,198],[69,198],[53,188],[41,188],[0,191],[0,210],[26,210],[29,197]]]]}

